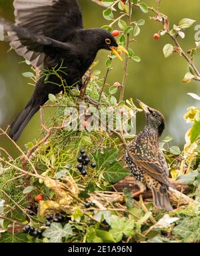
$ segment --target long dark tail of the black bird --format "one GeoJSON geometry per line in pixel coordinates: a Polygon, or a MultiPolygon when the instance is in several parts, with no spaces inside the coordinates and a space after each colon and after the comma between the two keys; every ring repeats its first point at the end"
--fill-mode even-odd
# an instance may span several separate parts
{"type": "Polygon", "coordinates": [[[9,136],[13,141],[17,141],[21,135],[23,129],[25,129],[27,123],[29,123],[31,117],[39,110],[39,107],[43,105],[43,101],[35,101],[33,98],[27,103],[25,109],[17,115],[13,123],[11,124],[11,129],[9,131],[9,136]]]}

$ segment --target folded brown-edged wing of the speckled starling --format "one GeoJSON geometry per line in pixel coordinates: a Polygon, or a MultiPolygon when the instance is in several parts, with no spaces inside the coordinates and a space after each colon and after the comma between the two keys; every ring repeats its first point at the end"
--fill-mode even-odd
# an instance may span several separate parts
{"type": "Polygon", "coordinates": [[[168,187],[171,186],[167,179],[166,170],[163,168],[163,165],[159,161],[158,157],[147,157],[146,155],[141,155],[140,153],[129,153],[129,157],[149,176],[167,185],[168,187]]]}

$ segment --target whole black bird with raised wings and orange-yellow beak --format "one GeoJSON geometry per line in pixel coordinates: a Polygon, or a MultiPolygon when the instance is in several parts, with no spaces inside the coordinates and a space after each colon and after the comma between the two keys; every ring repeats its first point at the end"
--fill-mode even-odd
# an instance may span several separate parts
{"type": "MultiPolygon", "coordinates": [[[[115,38],[104,29],[83,29],[82,15],[76,0],[15,0],[15,25],[0,18],[11,47],[40,70],[65,67],[59,75],[67,87],[82,85],[82,77],[100,49],[113,51],[119,59],[115,38]]],[[[49,93],[63,91],[56,75],[41,75],[25,109],[11,125],[9,136],[17,140],[23,129],[48,100],[49,93]]]]}

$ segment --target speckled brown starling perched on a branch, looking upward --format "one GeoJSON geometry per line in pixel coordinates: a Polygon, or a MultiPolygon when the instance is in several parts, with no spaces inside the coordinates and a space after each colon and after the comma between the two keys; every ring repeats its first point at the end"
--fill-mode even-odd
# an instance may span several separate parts
{"type": "Polygon", "coordinates": [[[159,138],[165,129],[165,119],[156,109],[137,100],[145,111],[147,123],[143,131],[127,145],[125,160],[137,181],[145,183],[153,193],[154,204],[167,211],[173,210],[169,201],[167,163],[159,148],[159,138]]]}

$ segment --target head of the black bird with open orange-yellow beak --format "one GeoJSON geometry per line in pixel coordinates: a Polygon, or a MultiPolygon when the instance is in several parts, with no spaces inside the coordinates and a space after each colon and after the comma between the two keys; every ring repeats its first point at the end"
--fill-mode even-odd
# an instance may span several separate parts
{"type": "Polygon", "coordinates": [[[124,53],[128,54],[127,50],[121,45],[118,45],[115,37],[113,37],[113,35],[111,35],[111,33],[109,33],[109,31],[105,29],[94,29],[93,41],[95,44],[97,44],[98,50],[106,49],[108,51],[112,51],[112,53],[115,54],[117,58],[121,61],[123,59],[121,58],[117,50],[123,51],[124,53]]]}

